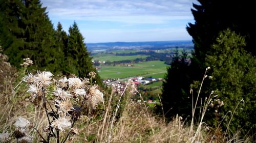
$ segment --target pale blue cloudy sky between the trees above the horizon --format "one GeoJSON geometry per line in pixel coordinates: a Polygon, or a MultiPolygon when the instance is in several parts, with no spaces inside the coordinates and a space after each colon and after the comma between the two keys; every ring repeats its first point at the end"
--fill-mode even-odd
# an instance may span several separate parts
{"type": "Polygon", "coordinates": [[[191,40],[196,0],[41,0],[54,27],[74,23],[86,43],[191,40]]]}

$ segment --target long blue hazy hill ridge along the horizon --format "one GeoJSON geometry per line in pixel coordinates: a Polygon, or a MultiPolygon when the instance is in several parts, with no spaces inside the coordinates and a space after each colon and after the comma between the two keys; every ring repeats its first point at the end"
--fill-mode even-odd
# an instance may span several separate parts
{"type": "Polygon", "coordinates": [[[192,41],[151,41],[151,42],[109,42],[87,43],[89,51],[105,51],[120,49],[166,49],[172,47],[193,48],[192,41]]]}

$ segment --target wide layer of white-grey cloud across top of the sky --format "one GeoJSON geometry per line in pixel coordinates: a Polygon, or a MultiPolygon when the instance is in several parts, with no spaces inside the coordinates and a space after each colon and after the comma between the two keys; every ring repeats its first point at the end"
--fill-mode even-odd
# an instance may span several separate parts
{"type": "Polygon", "coordinates": [[[172,19],[193,19],[190,8],[195,0],[183,1],[62,1],[43,0],[49,14],[59,19],[160,23],[172,19]],[[126,20],[127,19],[127,20],[126,20]],[[150,19],[150,20],[146,20],[150,19]]]}

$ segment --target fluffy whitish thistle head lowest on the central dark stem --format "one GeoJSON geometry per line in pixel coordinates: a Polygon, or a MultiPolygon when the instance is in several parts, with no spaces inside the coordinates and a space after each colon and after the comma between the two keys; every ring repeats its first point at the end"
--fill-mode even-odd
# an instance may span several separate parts
{"type": "Polygon", "coordinates": [[[70,126],[71,122],[65,117],[60,117],[59,119],[54,120],[51,125],[51,127],[60,130],[61,132],[65,131],[65,129],[69,128],[70,126]]]}

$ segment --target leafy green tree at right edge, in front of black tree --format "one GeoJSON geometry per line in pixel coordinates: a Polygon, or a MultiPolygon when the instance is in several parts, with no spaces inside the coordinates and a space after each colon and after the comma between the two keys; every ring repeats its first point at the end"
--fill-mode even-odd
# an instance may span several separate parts
{"type": "MultiPolygon", "coordinates": [[[[218,113],[214,112],[215,109],[208,112],[208,115],[214,115],[211,118],[216,119],[215,124],[218,125],[225,114],[232,111],[234,116],[229,128],[234,133],[242,129],[243,135],[256,129],[256,60],[244,50],[245,45],[245,39],[230,30],[219,35],[206,55],[206,65],[211,67],[209,75],[214,78],[204,91],[216,91],[217,98],[224,102],[218,113]],[[244,102],[240,103],[242,99],[244,102]]],[[[230,117],[229,114],[227,121],[223,122],[225,128],[230,117]]]]}

